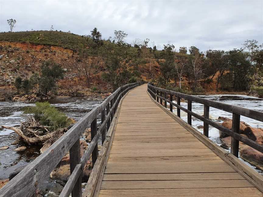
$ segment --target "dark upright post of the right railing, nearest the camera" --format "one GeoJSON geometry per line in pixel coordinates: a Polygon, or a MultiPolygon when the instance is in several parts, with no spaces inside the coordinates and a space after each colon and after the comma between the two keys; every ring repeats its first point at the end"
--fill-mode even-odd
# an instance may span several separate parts
{"type": "MultiPolygon", "coordinates": [[[[232,131],[235,133],[239,133],[240,129],[240,115],[232,114],[232,131]]],[[[231,150],[230,152],[238,157],[238,149],[239,149],[239,141],[231,137],[231,150]]]]}

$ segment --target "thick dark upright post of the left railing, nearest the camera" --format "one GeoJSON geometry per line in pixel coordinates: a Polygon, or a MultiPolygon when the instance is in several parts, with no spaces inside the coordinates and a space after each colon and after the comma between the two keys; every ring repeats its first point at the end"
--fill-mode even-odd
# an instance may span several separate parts
{"type": "MultiPolygon", "coordinates": [[[[69,149],[69,159],[70,159],[70,174],[72,174],[76,165],[80,163],[80,143],[79,139],[73,144],[73,146],[69,149]]],[[[71,196],[72,197],[81,197],[81,181],[82,181],[82,173],[80,173],[77,182],[72,189],[71,196]]]]}

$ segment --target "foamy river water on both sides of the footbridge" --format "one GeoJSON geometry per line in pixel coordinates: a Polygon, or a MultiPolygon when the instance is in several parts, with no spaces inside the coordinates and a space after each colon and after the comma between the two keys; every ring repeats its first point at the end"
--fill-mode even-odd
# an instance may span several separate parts
{"type": "MultiPolygon", "coordinates": [[[[198,97],[263,112],[263,100],[258,99],[257,97],[246,95],[198,95],[198,97]]],[[[85,97],[69,97],[48,100],[48,102],[56,106],[60,111],[65,112],[67,116],[75,120],[81,119],[87,112],[98,106],[102,101],[103,100],[91,100],[85,97]]],[[[19,126],[20,122],[25,119],[22,112],[20,111],[21,108],[33,105],[34,103],[0,102],[0,125],[19,126]]],[[[187,103],[181,102],[181,105],[187,108],[187,103]]],[[[199,115],[203,115],[203,108],[204,106],[202,104],[195,102],[192,103],[192,111],[199,115]]],[[[174,112],[176,113],[176,110],[174,110],[174,112]]],[[[218,121],[219,123],[222,123],[222,121],[217,120],[219,116],[232,119],[231,113],[210,107],[210,118],[218,121]]],[[[184,121],[187,121],[187,114],[182,110],[181,118],[184,121]]],[[[98,124],[100,124],[100,121],[101,119],[100,117],[98,117],[98,124]]],[[[241,121],[244,121],[250,126],[256,128],[263,127],[262,122],[244,116],[241,116],[241,121]]],[[[199,125],[203,125],[203,122],[193,118],[192,126],[194,126],[198,131],[202,133],[203,130],[197,128],[197,126],[199,125]]],[[[14,133],[12,130],[0,129],[0,147],[9,146],[9,149],[0,150],[0,180],[8,178],[9,174],[14,171],[14,169],[33,161],[40,154],[40,147],[37,146],[27,148],[26,151],[22,153],[13,151],[13,149],[18,147],[18,145],[11,145],[11,143],[15,141],[16,137],[17,134],[14,133]]],[[[221,141],[219,139],[219,131],[213,127],[209,127],[209,138],[218,145],[221,144],[221,141]]],[[[254,168],[253,166],[251,167],[254,168]]]]}

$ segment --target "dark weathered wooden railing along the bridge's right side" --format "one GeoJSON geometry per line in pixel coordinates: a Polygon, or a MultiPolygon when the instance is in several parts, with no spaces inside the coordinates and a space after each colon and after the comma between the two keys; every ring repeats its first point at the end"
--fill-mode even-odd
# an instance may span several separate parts
{"type": "Polygon", "coordinates": [[[222,102],[211,101],[208,99],[202,99],[197,96],[182,94],[179,92],[174,92],[171,90],[166,90],[163,88],[155,87],[151,84],[148,84],[148,92],[150,95],[156,99],[157,102],[160,100],[160,104],[167,108],[167,102],[170,104],[170,111],[173,112],[173,106],[177,107],[177,116],[180,117],[180,110],[183,110],[187,113],[187,123],[192,124],[191,116],[198,118],[204,122],[204,135],[208,137],[209,134],[209,125],[215,127],[216,129],[226,133],[231,136],[231,150],[230,152],[238,157],[239,141],[244,144],[260,151],[263,153],[263,146],[247,137],[240,135],[240,116],[246,116],[251,119],[255,119],[263,122],[263,113],[255,110],[247,109],[244,107],[238,107],[235,105],[229,105],[222,102]],[[169,99],[167,99],[169,95],[169,99]],[[177,98],[177,103],[173,102],[173,97],[177,98]],[[181,99],[187,100],[187,109],[180,105],[181,99]],[[192,102],[201,103],[204,105],[204,116],[200,116],[192,112],[192,102]],[[232,113],[232,130],[212,121],[209,119],[209,107],[220,109],[226,112],[232,113]]]}

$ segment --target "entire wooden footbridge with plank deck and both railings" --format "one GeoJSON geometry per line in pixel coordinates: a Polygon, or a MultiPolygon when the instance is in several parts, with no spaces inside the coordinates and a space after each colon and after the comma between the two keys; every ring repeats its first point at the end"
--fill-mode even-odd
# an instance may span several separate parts
{"type": "Polygon", "coordinates": [[[33,196],[68,150],[71,176],[60,197],[263,196],[262,175],[238,159],[239,141],[263,152],[239,134],[240,115],[263,121],[263,113],[142,84],[118,88],[9,181],[0,197],[33,196]],[[204,105],[204,116],[191,111],[192,102],[204,105]],[[233,113],[232,130],[209,120],[209,107],[233,113]],[[188,123],[180,110],[188,113],[188,123]],[[191,116],[204,121],[204,135],[191,126],[191,116]],[[89,125],[92,142],[80,157],[79,136],[89,125]],[[209,125],[232,137],[231,153],[209,140],[209,125]],[[83,192],[82,170],[90,156],[93,170],[83,192]]]}

